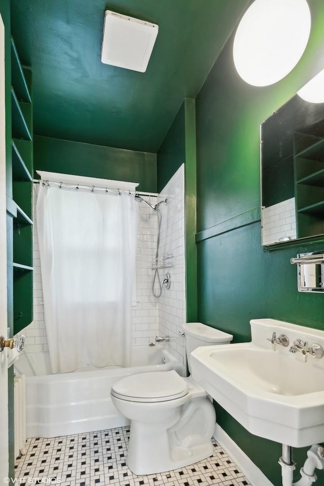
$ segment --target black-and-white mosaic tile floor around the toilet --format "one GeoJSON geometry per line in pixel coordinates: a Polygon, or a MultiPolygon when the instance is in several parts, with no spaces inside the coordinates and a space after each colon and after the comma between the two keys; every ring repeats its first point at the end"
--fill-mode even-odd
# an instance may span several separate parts
{"type": "Polygon", "coordinates": [[[222,448],[192,466],[149,476],[135,476],[126,466],[129,427],[27,440],[27,454],[17,458],[17,483],[61,486],[247,486],[250,483],[222,448]],[[28,478],[33,478],[32,482],[28,478]],[[43,479],[42,479],[43,478],[43,479]]]}

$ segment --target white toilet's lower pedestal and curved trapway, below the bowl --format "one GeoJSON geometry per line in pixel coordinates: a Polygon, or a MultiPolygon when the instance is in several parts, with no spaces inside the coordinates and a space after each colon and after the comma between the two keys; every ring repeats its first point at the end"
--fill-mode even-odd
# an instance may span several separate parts
{"type": "Polygon", "coordinates": [[[156,474],[212,456],[215,422],[215,409],[206,397],[172,410],[167,420],[169,428],[166,422],[131,421],[128,467],[138,476],[156,474]]]}

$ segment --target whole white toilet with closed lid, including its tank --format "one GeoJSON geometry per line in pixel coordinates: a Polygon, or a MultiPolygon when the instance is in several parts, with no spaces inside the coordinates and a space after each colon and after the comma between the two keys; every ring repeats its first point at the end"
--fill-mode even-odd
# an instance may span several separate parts
{"type": "MultiPolygon", "coordinates": [[[[184,326],[188,367],[198,346],[227,344],[231,334],[200,322],[184,326]]],[[[137,373],[116,382],[111,399],[131,420],[127,465],[136,475],[194,464],[213,454],[216,415],[206,391],[175,370],[137,373]]]]}

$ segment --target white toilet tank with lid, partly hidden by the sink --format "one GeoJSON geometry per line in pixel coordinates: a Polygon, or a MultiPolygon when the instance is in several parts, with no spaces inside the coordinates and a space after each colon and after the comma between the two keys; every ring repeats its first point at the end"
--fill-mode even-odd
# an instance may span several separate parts
{"type": "Polygon", "coordinates": [[[191,372],[190,353],[199,346],[215,346],[217,344],[229,344],[233,336],[201,322],[187,322],[183,325],[186,337],[186,353],[188,368],[191,372]]]}

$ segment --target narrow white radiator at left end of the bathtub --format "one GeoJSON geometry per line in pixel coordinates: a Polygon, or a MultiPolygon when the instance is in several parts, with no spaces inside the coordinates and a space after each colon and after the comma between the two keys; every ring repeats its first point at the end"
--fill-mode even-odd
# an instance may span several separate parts
{"type": "Polygon", "coordinates": [[[15,458],[26,454],[26,384],[25,376],[14,379],[15,458]]]}

